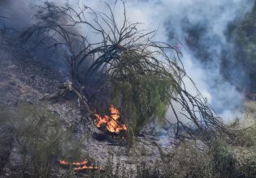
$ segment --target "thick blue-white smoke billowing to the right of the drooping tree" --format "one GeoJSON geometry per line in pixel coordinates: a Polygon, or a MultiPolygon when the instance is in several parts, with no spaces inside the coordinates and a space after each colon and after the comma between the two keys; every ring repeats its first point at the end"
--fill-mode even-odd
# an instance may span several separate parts
{"type": "MultiPolygon", "coordinates": [[[[219,116],[230,121],[240,115],[244,95],[220,73],[222,49],[230,46],[225,32],[228,23],[242,19],[253,6],[253,0],[134,0],[128,2],[128,11],[131,19],[143,20],[144,28],[159,27],[160,34],[156,36],[159,40],[180,47],[186,73],[219,116]],[[199,36],[191,36],[189,30],[192,34],[196,31],[199,36]],[[187,46],[189,39],[198,41],[197,46],[193,46],[197,52],[187,46]],[[200,56],[202,53],[206,56],[200,56]],[[210,60],[206,61],[207,58],[210,60]]],[[[228,53],[233,53],[232,48],[228,53]]],[[[194,88],[189,87],[189,82],[186,84],[193,93],[194,88]]]]}

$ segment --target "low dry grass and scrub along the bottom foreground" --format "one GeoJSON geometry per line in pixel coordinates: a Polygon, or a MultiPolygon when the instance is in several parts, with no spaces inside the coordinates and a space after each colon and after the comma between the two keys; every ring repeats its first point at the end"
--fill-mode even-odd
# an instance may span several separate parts
{"type": "MultiPolygon", "coordinates": [[[[67,141],[68,134],[63,134],[59,117],[46,108],[21,104],[15,113],[4,112],[3,109],[0,112],[2,117],[15,118],[20,154],[24,158],[22,175],[28,176],[29,172],[31,176],[49,177],[51,175],[49,165],[53,159],[63,155],[66,155],[67,159],[80,157],[79,144],[75,148],[63,151],[65,145],[63,139],[67,141]]],[[[245,104],[244,119],[230,126],[234,129],[242,129],[239,132],[243,141],[241,145],[232,145],[221,139],[211,141],[209,146],[202,142],[199,144],[180,142],[178,146],[168,150],[161,150],[159,147],[159,159],[149,163],[145,160],[139,161],[140,157],[149,156],[146,146],[134,144],[130,149],[129,158],[134,167],[128,168],[118,155],[110,155],[105,167],[102,167],[104,172],[90,172],[88,176],[254,177],[256,175],[255,119],[256,103],[248,102],[245,104]]],[[[66,172],[64,177],[76,177],[76,175],[71,170],[66,172]]]]}

